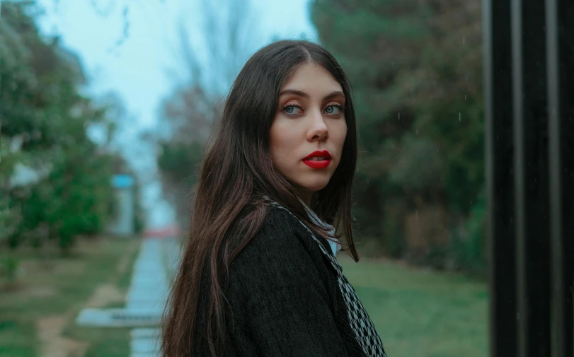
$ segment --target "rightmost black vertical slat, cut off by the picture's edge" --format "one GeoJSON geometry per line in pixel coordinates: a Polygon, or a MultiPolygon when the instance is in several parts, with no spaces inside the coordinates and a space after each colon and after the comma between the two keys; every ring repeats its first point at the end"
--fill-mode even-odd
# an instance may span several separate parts
{"type": "Polygon", "coordinates": [[[574,134],[573,16],[572,1],[546,1],[553,357],[574,356],[574,148],[568,137],[574,134]]]}

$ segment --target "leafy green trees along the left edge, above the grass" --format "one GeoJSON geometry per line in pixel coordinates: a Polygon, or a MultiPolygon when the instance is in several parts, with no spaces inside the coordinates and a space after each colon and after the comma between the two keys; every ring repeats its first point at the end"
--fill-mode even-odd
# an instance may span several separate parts
{"type": "Polygon", "coordinates": [[[78,57],[39,33],[38,11],[34,1],[1,3],[0,244],[68,252],[105,228],[117,155],[88,138],[91,126],[110,127],[107,108],[82,94],[78,57]]]}

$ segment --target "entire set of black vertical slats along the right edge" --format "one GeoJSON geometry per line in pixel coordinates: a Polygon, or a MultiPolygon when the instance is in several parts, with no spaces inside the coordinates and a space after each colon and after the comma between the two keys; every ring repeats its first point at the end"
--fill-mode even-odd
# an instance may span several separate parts
{"type": "Polygon", "coordinates": [[[493,357],[574,356],[573,19],[483,0],[493,357]]]}

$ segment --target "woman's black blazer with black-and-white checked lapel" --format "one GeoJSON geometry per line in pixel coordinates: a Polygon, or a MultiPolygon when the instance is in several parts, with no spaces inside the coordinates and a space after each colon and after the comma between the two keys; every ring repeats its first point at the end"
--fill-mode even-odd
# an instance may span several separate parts
{"type": "MultiPolygon", "coordinates": [[[[328,242],[282,206],[269,207],[229,269],[229,356],[386,357],[328,242]]],[[[197,333],[193,356],[209,356],[205,325],[197,333]]]]}

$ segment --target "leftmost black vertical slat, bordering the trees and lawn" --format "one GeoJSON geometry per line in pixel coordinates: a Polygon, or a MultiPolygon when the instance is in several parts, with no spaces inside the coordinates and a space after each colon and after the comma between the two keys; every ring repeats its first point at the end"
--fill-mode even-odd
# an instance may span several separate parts
{"type": "Polygon", "coordinates": [[[517,356],[510,0],[483,1],[490,356],[517,356]]]}

